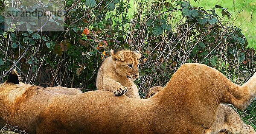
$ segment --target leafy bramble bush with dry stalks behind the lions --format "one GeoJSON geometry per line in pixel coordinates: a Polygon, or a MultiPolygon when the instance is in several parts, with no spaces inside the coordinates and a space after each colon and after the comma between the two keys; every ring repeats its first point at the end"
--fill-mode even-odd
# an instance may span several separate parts
{"type": "MultiPolygon", "coordinates": [[[[111,49],[143,53],[136,80],[142,98],[148,87],[164,86],[186,62],[207,64],[239,84],[253,74],[255,50],[247,47],[241,29],[225,21],[232,16],[227,8],[204,9],[181,0],[135,2],[131,14],[129,0],[66,0],[64,32],[31,31],[27,25],[37,22],[15,24],[26,32],[16,31],[15,25],[3,31],[1,16],[0,79],[5,81],[15,67],[27,84],[95,90],[97,70],[111,49]]],[[[37,5],[27,8],[51,8],[37,5]]],[[[244,112],[250,119],[256,116],[255,106],[254,101],[244,112]]],[[[248,123],[255,127],[255,120],[248,123]]]]}

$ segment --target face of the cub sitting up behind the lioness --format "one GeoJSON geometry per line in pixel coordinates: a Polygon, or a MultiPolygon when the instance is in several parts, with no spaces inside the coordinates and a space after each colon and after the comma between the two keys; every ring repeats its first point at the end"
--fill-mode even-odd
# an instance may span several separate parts
{"type": "Polygon", "coordinates": [[[141,57],[140,53],[131,50],[120,50],[113,51],[111,50],[111,56],[115,62],[116,72],[128,78],[131,81],[134,81],[139,77],[139,58],[141,57]]]}

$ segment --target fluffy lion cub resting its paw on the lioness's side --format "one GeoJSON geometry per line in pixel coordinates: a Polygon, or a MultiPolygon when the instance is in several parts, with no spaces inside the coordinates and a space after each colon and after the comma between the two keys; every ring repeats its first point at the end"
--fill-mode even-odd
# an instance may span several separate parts
{"type": "Polygon", "coordinates": [[[139,76],[141,55],[137,51],[110,51],[110,57],[103,61],[96,78],[98,90],[105,89],[115,96],[125,94],[130,98],[140,98],[134,80],[139,76]]]}

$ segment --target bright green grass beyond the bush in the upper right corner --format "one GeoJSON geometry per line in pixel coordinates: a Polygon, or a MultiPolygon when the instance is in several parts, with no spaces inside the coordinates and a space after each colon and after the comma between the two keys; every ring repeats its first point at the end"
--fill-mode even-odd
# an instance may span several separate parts
{"type": "MultiPolygon", "coordinates": [[[[191,0],[192,6],[202,6],[212,8],[220,5],[228,8],[232,17],[225,20],[241,28],[248,41],[248,47],[256,49],[256,0],[191,0]]],[[[221,15],[221,9],[216,9],[216,13],[221,15]]]]}

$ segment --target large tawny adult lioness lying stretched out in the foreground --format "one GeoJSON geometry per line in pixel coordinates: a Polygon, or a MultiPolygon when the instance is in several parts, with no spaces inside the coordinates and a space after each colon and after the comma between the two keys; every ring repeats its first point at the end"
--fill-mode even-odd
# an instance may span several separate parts
{"type": "Polygon", "coordinates": [[[221,102],[245,109],[256,97],[256,74],[238,86],[204,64],[183,64],[164,89],[149,99],[116,97],[97,90],[52,94],[42,87],[0,85],[0,123],[31,134],[204,134],[221,102]]]}

